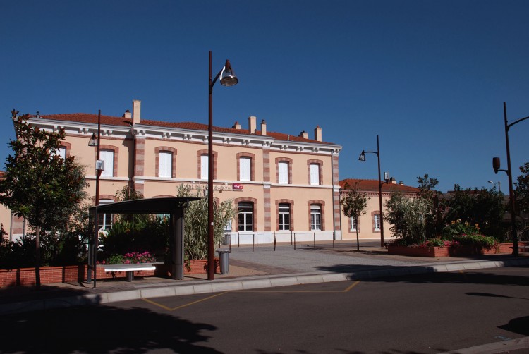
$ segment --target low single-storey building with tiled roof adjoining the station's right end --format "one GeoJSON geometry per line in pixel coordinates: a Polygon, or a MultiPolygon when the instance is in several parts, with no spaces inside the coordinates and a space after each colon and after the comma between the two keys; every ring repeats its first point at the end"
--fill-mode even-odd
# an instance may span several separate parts
{"type": "MultiPolygon", "coordinates": [[[[383,181],[384,182],[384,181],[383,181]]],[[[356,240],[356,231],[358,230],[359,239],[380,239],[380,203],[379,203],[379,181],[377,180],[361,180],[355,178],[348,178],[340,181],[340,195],[347,192],[345,185],[348,184],[350,188],[358,190],[363,193],[367,200],[367,208],[365,215],[358,218],[358,224],[354,219],[348,218],[341,212],[341,237],[343,240],[356,240]]],[[[389,228],[391,225],[384,219],[387,213],[386,202],[393,193],[402,193],[406,197],[416,197],[419,189],[404,185],[402,182],[396,183],[394,179],[389,180],[389,183],[382,184],[382,224],[384,224],[384,240],[392,238],[389,228]]]]}

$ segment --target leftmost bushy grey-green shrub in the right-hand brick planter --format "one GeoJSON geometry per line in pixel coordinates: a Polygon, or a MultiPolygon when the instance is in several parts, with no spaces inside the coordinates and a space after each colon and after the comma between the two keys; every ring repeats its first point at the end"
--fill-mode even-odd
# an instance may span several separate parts
{"type": "Polygon", "coordinates": [[[427,216],[432,213],[432,202],[425,198],[408,198],[394,193],[386,202],[386,219],[391,232],[402,245],[421,243],[427,238],[427,216]]]}

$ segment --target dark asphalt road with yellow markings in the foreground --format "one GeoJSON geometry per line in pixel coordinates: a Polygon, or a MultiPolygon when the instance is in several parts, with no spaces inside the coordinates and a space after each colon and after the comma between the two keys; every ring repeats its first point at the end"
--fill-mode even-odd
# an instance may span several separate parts
{"type": "Polygon", "coordinates": [[[529,336],[529,267],[132,300],[0,325],[0,353],[440,353],[529,336]]]}

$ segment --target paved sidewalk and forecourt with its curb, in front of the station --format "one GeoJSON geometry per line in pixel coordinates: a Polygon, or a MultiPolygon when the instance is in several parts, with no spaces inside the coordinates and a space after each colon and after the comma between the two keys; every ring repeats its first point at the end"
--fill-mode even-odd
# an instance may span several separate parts
{"type": "MultiPolygon", "coordinates": [[[[183,281],[157,277],[98,280],[87,283],[45,284],[41,290],[15,287],[0,289],[0,314],[57,307],[97,305],[138,298],[237,291],[249,288],[290,286],[351,279],[401,276],[437,271],[458,271],[529,265],[529,255],[422,258],[387,255],[379,242],[361,243],[360,252],[351,241],[290,243],[276,245],[232,245],[229,274],[186,276],[183,281]]],[[[226,246],[223,246],[226,249],[226,246]]]]}

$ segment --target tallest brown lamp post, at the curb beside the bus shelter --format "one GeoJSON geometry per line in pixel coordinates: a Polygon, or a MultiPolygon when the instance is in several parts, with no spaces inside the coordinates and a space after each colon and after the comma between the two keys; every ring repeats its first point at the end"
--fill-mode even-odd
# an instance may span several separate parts
{"type": "Polygon", "coordinates": [[[220,78],[223,86],[237,85],[236,77],[229,60],[212,79],[211,51],[209,51],[209,121],[207,126],[207,280],[214,279],[214,224],[213,224],[213,85],[220,78]]]}

